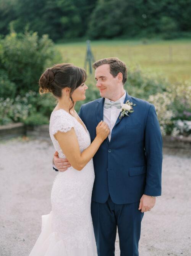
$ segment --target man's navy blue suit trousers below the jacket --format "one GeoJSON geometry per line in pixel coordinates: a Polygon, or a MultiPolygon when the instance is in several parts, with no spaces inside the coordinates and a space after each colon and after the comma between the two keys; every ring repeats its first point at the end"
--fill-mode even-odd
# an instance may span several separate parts
{"type": "Polygon", "coordinates": [[[115,255],[115,239],[118,228],[120,256],[138,256],[141,234],[139,201],[118,205],[108,198],[106,203],[92,201],[91,214],[98,256],[115,255]]]}

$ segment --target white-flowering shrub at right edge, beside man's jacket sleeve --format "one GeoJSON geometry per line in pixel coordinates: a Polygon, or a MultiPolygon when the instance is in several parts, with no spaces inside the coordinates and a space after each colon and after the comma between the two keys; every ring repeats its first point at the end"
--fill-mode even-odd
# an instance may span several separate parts
{"type": "Polygon", "coordinates": [[[173,84],[167,92],[149,96],[156,108],[163,135],[189,135],[191,121],[191,84],[173,84]],[[185,128],[180,124],[186,124],[185,128]]]}

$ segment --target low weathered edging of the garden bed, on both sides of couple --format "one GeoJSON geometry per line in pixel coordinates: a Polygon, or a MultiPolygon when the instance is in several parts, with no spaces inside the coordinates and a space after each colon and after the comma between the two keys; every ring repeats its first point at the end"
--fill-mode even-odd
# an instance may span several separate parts
{"type": "MultiPolygon", "coordinates": [[[[50,139],[49,124],[35,127],[26,127],[22,123],[0,126],[0,139],[9,139],[21,135],[50,139]]],[[[191,137],[163,136],[163,147],[171,149],[191,149],[191,137]]]]}

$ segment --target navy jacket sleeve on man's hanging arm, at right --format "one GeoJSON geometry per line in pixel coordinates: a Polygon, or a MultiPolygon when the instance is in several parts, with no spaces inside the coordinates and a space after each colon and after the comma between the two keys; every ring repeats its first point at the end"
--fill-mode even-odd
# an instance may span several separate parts
{"type": "Polygon", "coordinates": [[[154,105],[151,104],[145,126],[144,149],[147,161],[145,195],[161,195],[162,135],[154,105]]]}

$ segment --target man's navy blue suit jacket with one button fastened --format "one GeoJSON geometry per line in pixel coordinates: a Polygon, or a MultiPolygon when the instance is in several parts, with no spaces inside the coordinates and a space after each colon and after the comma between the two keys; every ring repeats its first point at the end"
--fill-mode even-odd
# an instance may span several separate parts
{"type": "MultiPolygon", "coordinates": [[[[129,116],[117,119],[111,140],[104,140],[93,157],[95,182],[92,200],[105,203],[108,196],[117,204],[139,201],[143,194],[161,195],[162,135],[154,105],[129,96],[124,103],[136,106],[129,116]]],[[[91,141],[103,120],[104,98],[81,106],[79,116],[91,141]]]]}

